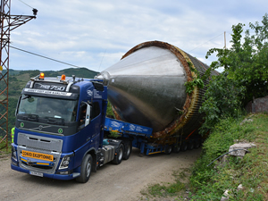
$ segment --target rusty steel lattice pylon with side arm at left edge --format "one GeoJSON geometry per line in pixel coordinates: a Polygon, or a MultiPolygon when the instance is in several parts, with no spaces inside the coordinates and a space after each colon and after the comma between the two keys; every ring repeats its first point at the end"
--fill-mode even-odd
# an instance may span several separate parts
{"type": "MultiPolygon", "coordinates": [[[[35,19],[38,13],[33,9],[33,15],[11,15],[11,0],[1,0],[0,12],[0,143],[5,139],[6,151],[8,150],[8,78],[9,78],[9,48],[10,32],[22,24],[35,19]],[[3,137],[3,138],[2,138],[3,137]]],[[[0,149],[4,148],[0,147],[0,149]]]]}

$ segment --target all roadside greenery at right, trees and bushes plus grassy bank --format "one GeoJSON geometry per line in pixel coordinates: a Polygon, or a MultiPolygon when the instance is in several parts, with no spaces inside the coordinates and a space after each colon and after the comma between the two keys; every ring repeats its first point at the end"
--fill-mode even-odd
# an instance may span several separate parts
{"type": "Polygon", "coordinates": [[[268,14],[262,23],[249,23],[250,30],[244,27],[242,23],[232,26],[230,48],[213,48],[206,54],[218,57],[211,69],[223,67],[224,71],[212,78],[205,92],[200,134],[210,131],[210,135],[189,180],[175,177],[173,184],[149,186],[142,192],[147,199],[221,200],[228,189],[229,200],[268,200],[268,115],[244,110],[249,101],[268,95],[268,14]],[[225,163],[212,163],[239,141],[256,147],[242,159],[228,157],[225,163]]]}

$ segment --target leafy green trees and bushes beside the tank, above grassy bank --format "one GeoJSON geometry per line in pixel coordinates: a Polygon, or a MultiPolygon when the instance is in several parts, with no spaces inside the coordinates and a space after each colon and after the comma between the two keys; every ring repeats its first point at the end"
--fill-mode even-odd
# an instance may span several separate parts
{"type": "Polygon", "coordinates": [[[201,133],[214,128],[222,118],[239,117],[243,106],[254,97],[266,96],[268,87],[268,15],[264,15],[263,25],[250,23],[255,35],[245,31],[242,23],[232,26],[231,46],[210,49],[206,58],[216,53],[218,60],[211,68],[224,67],[221,75],[210,81],[205,92],[205,102],[200,113],[205,113],[205,123],[201,133]]]}

